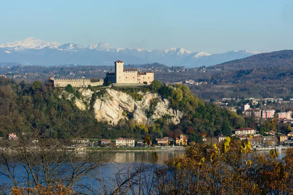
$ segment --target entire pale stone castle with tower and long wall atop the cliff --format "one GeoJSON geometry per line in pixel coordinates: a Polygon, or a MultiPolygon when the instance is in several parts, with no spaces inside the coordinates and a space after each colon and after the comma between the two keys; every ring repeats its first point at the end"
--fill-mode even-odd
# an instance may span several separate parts
{"type": "Polygon", "coordinates": [[[105,80],[100,78],[97,82],[91,82],[88,78],[53,78],[50,81],[55,87],[66,87],[68,84],[72,87],[88,87],[104,85],[106,82],[111,81],[114,85],[143,85],[144,82],[150,84],[154,80],[153,72],[140,73],[136,69],[124,69],[123,61],[115,61],[115,72],[106,73],[105,80]],[[104,83],[105,82],[105,83],[104,83]]]}

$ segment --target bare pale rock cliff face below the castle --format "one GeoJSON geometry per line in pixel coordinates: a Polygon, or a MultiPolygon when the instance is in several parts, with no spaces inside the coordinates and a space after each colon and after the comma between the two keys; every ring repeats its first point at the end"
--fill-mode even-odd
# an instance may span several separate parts
{"type": "MultiPolygon", "coordinates": [[[[138,101],[124,92],[110,88],[104,90],[103,97],[92,99],[93,91],[80,89],[79,92],[82,94],[82,98],[76,98],[74,100],[76,106],[81,110],[86,110],[89,109],[91,104],[98,121],[108,121],[114,125],[122,118],[127,119],[133,117],[137,123],[147,124],[154,119],[164,116],[169,116],[171,118],[170,120],[177,124],[183,117],[182,112],[169,108],[169,101],[162,99],[158,94],[140,92],[143,98],[138,101]],[[152,114],[147,118],[146,111],[150,109],[150,103],[154,99],[156,99],[156,105],[152,109],[152,114]]],[[[71,99],[72,95],[67,95],[67,98],[71,99]]]]}

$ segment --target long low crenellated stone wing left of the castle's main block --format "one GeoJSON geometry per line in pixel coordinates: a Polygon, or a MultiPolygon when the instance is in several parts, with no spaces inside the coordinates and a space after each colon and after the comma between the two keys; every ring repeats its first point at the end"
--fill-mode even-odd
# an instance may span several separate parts
{"type": "Polygon", "coordinates": [[[55,87],[66,87],[70,84],[72,87],[88,87],[90,86],[99,86],[104,84],[104,79],[100,78],[98,82],[91,82],[88,78],[76,78],[76,79],[69,79],[69,78],[53,78],[50,77],[50,81],[53,82],[55,87]]]}

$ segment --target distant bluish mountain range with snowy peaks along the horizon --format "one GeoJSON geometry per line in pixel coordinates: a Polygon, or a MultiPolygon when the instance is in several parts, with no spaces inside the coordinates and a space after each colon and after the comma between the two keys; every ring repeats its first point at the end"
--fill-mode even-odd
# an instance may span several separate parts
{"type": "Polygon", "coordinates": [[[243,59],[262,52],[251,50],[230,51],[222,54],[191,52],[183,48],[145,50],[114,48],[102,41],[87,47],[74,43],[46,42],[33,37],[0,44],[0,62],[27,65],[113,65],[117,59],[126,64],[164,63],[168,66],[210,66],[234,59],[243,59]]]}

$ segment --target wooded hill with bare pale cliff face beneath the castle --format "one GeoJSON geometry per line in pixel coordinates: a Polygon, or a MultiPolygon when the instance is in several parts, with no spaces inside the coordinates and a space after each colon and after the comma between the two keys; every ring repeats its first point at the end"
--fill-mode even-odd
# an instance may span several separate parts
{"type": "Polygon", "coordinates": [[[61,89],[1,77],[0,106],[0,136],[38,129],[55,138],[197,137],[221,133],[224,121],[231,128],[245,125],[236,113],[194,97],[187,86],[174,89],[160,81],[147,88],[61,89]]]}

